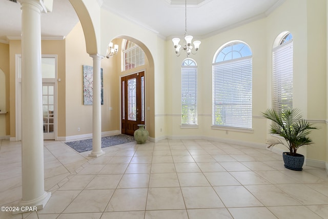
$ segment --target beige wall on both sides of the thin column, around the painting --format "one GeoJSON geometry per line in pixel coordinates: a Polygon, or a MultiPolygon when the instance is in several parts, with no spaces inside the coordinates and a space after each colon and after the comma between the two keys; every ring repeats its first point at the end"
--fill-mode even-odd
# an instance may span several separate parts
{"type": "MultiPolygon", "coordinates": [[[[93,66],[86,52],[83,29],[78,23],[66,41],[66,134],[75,136],[92,133],[92,105],[84,105],[83,65],[93,66]],[[80,131],[77,129],[80,128],[80,131]]],[[[119,74],[113,59],[103,58],[104,105],[101,105],[101,131],[117,132],[119,126],[119,74]],[[110,110],[110,107],[112,110],[110,110]]]]}

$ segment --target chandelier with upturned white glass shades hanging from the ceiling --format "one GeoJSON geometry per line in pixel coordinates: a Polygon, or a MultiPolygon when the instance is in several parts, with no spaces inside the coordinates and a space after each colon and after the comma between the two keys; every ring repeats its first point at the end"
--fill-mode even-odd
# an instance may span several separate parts
{"type": "Polygon", "coordinates": [[[186,13],[185,13],[185,24],[186,24],[186,29],[185,29],[185,38],[183,39],[183,45],[181,46],[179,44],[180,42],[180,38],[173,38],[172,39],[172,42],[173,42],[173,46],[174,46],[174,49],[175,49],[175,53],[176,53],[176,56],[179,56],[180,55],[180,52],[183,50],[186,51],[187,53],[187,57],[190,55],[190,53],[192,54],[196,54],[198,49],[199,49],[199,45],[200,45],[200,41],[194,41],[193,44],[195,46],[194,50],[195,52],[192,50],[193,49],[193,46],[191,46],[191,43],[192,43],[192,39],[193,39],[193,36],[192,35],[187,35],[187,0],[185,2],[185,9],[186,9],[186,13]]]}

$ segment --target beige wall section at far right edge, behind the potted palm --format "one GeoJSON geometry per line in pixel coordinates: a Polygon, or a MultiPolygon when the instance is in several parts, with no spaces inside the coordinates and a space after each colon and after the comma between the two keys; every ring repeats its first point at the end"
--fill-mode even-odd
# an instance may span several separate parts
{"type": "Polygon", "coordinates": [[[306,158],[314,161],[325,161],[328,150],[326,133],[326,1],[306,1],[308,13],[308,114],[306,117],[316,123],[319,130],[313,132],[315,144],[306,147],[306,158]]]}

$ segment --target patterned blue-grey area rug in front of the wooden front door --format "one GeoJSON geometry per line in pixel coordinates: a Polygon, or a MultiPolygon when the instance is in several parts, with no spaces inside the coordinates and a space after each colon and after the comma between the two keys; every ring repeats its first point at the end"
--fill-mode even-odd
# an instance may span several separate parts
{"type": "MultiPolygon", "coordinates": [[[[128,142],[134,142],[133,136],[126,134],[117,134],[106,137],[101,137],[101,148],[110,147],[113,145],[120,145],[128,142]]],[[[73,142],[65,142],[66,145],[70,146],[77,152],[85,152],[92,150],[92,138],[86,140],[79,140],[73,142]]]]}

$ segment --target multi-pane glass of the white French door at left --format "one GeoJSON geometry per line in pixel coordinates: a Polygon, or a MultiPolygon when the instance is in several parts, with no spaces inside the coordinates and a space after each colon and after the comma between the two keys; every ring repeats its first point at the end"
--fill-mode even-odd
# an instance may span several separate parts
{"type": "Polygon", "coordinates": [[[53,89],[52,85],[44,85],[43,90],[43,131],[44,133],[51,133],[53,132],[53,125],[54,125],[54,96],[53,96],[53,89]]]}

